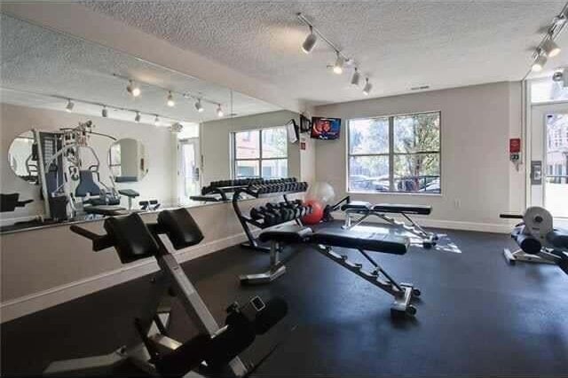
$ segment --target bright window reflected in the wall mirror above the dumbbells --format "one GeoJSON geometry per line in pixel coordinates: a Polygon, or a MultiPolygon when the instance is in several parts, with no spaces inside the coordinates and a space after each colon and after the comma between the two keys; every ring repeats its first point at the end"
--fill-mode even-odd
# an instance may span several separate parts
{"type": "Polygon", "coordinates": [[[233,177],[288,177],[286,127],[233,133],[233,177]]]}

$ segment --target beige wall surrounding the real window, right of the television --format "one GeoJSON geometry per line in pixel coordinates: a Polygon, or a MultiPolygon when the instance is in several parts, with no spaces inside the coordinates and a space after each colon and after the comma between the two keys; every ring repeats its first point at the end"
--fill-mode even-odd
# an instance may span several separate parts
{"type": "MultiPolygon", "coordinates": [[[[347,121],[356,117],[441,111],[442,194],[353,194],[358,200],[433,206],[429,224],[507,232],[499,218],[522,211],[523,169],[509,162],[509,137],[520,136],[520,83],[491,83],[444,91],[316,106],[319,116],[342,118],[341,138],[317,141],[316,176],[346,193],[347,121]]],[[[427,221],[428,222],[428,221],[427,221]]]]}

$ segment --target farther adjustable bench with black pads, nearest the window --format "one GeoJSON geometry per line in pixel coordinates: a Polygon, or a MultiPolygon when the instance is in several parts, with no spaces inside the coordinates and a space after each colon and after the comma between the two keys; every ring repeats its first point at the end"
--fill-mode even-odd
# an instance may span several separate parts
{"type": "Polygon", "coordinates": [[[380,217],[388,224],[392,224],[406,232],[410,232],[415,236],[418,236],[422,239],[423,248],[432,248],[432,246],[436,245],[439,239],[436,233],[427,232],[420,226],[420,224],[417,224],[411,217],[409,217],[411,215],[428,216],[432,211],[431,206],[390,203],[372,205],[369,202],[364,201],[349,201],[349,197],[347,197],[347,203],[343,204],[341,209],[345,212],[345,223],[343,224],[343,228],[346,230],[361,224],[365,219],[367,219],[367,217],[375,216],[380,217]],[[388,214],[400,214],[402,217],[405,217],[410,224],[400,222],[395,218],[390,217],[388,214]]]}

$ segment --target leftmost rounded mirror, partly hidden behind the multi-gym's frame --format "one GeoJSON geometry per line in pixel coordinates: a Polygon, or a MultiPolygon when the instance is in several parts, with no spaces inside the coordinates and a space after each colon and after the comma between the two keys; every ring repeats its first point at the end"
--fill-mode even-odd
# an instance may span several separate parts
{"type": "Polygon", "coordinates": [[[37,153],[34,154],[34,146],[32,130],[22,132],[12,140],[8,149],[8,163],[16,176],[37,185],[37,153]]]}

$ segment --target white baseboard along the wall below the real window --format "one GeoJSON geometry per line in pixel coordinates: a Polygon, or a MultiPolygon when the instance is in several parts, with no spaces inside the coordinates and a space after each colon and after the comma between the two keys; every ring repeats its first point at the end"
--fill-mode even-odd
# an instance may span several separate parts
{"type": "MultiPolygon", "coordinates": [[[[345,219],[344,213],[334,213],[335,219],[345,219]]],[[[399,221],[406,221],[403,217],[394,216],[399,221]]],[[[496,232],[496,233],[509,233],[511,232],[511,224],[490,224],[490,223],[477,223],[477,222],[461,222],[449,221],[442,219],[432,219],[424,216],[414,216],[413,220],[423,227],[442,228],[447,230],[463,230],[463,231],[477,231],[477,232],[496,232]]],[[[368,223],[384,224],[383,220],[378,217],[368,217],[368,223]]],[[[407,222],[407,221],[406,221],[407,222]]]]}

